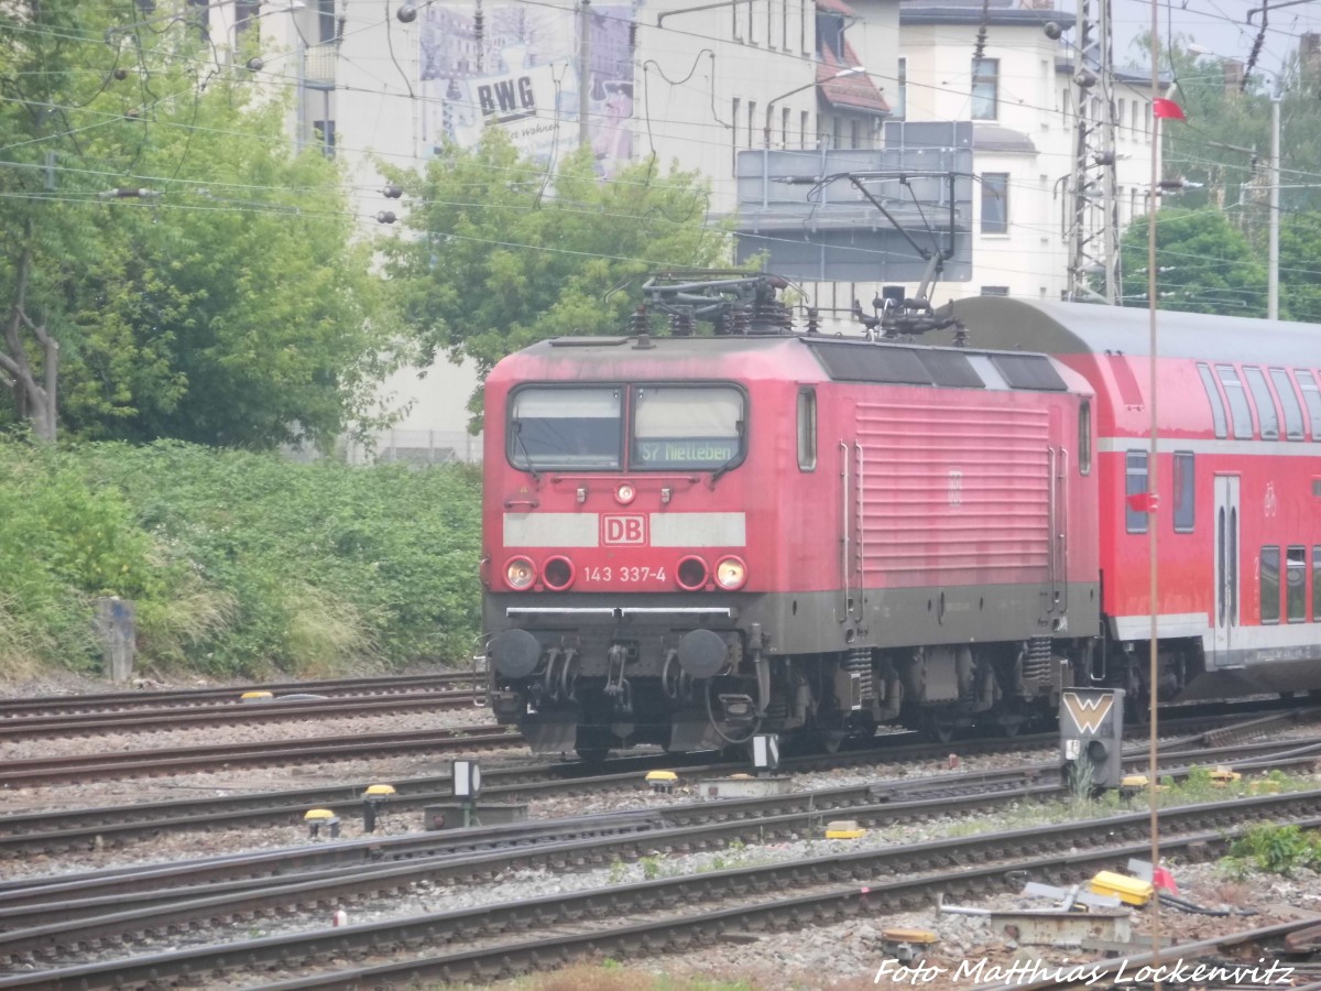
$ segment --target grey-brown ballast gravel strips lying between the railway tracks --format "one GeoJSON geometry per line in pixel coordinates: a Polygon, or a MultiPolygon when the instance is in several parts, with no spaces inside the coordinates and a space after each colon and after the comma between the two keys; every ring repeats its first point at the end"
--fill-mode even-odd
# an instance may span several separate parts
{"type": "MultiPolygon", "coordinates": [[[[42,686],[45,687],[45,686],[42,686]]],[[[152,686],[164,687],[164,686],[152,686]]],[[[104,691],[104,686],[89,688],[104,691]]],[[[34,691],[32,686],[11,686],[12,695],[54,694],[34,691]]],[[[178,729],[169,733],[106,733],[98,736],[92,747],[104,749],[147,749],[156,747],[199,747],[215,743],[255,743],[266,740],[296,739],[303,736],[346,737],[391,732],[399,729],[428,729],[443,732],[449,727],[472,725],[489,721],[489,714],[482,710],[441,710],[429,714],[402,714],[396,716],[366,716],[355,719],[326,717],[314,721],[252,724],[205,729],[178,729]]],[[[1309,737],[1314,729],[1304,731],[1309,737]]],[[[49,756],[61,752],[87,752],[87,740],[71,740],[69,751],[53,751],[52,741],[26,741],[29,745],[0,743],[0,760],[22,760],[24,756],[49,756]]],[[[956,745],[951,751],[956,751],[956,745]]],[[[129,802],[182,798],[201,794],[226,794],[240,791],[267,791],[280,789],[309,788],[316,785],[366,785],[388,782],[406,777],[444,774],[449,761],[456,754],[436,757],[413,756],[392,758],[371,758],[342,761],[334,764],[271,766],[238,769],[229,773],[188,773],[172,776],[168,780],[102,780],[91,784],[50,785],[44,788],[15,789],[5,794],[4,811],[13,814],[41,809],[112,806],[129,802]]],[[[534,762],[526,752],[513,749],[499,753],[473,754],[483,766],[501,762],[534,762]]],[[[793,776],[795,790],[840,788],[876,784],[881,780],[911,780],[914,777],[939,777],[963,770],[992,770],[1018,766],[1025,762],[1050,760],[1054,754],[1044,751],[1021,751],[985,757],[967,757],[958,761],[927,761],[919,765],[888,765],[877,762],[860,768],[836,768],[834,770],[812,772],[793,776]],[[951,764],[958,764],[956,770],[951,764]]],[[[641,776],[639,776],[641,778],[641,776]]],[[[691,802],[697,798],[692,784],[683,784],[674,794],[658,794],[645,788],[641,780],[618,790],[536,798],[531,802],[532,818],[580,817],[596,813],[625,809],[663,809],[668,805],[691,802]]],[[[3,814],[0,814],[3,815],[3,814]]],[[[749,867],[761,863],[785,862],[822,856],[831,852],[889,847],[921,843],[962,832],[983,832],[997,828],[1012,828],[1028,825],[1026,818],[1040,823],[1040,813],[1024,807],[1009,807],[1003,813],[954,819],[933,819],[918,823],[871,830],[856,840],[824,840],[803,838],[790,842],[768,844],[731,844],[721,851],[694,854],[670,854],[657,851],[635,862],[616,862],[605,867],[593,867],[580,872],[551,869],[513,869],[483,881],[464,881],[457,884],[433,884],[420,881],[403,892],[395,892],[380,899],[369,899],[342,906],[345,916],[341,924],[384,921],[404,916],[429,914],[474,909],[507,901],[528,901],[542,897],[556,897],[571,892],[609,888],[618,884],[719,871],[734,867],[749,867]]],[[[847,811],[838,817],[848,818],[847,811]]],[[[376,835],[395,835],[419,831],[420,813],[387,813],[378,826],[376,835]]],[[[346,821],[342,839],[363,835],[361,823],[346,821]]],[[[276,850],[297,847],[308,843],[334,842],[328,838],[310,838],[303,827],[266,826],[251,830],[217,830],[205,832],[169,832],[149,842],[132,843],[123,848],[98,847],[92,843],[85,851],[70,851],[49,856],[36,856],[22,864],[7,865],[7,877],[49,877],[52,875],[115,867],[125,864],[148,864],[170,860],[193,859],[207,855],[227,855],[244,851],[276,850]]],[[[1317,913],[1321,916],[1321,893],[1318,885],[1305,880],[1269,879],[1242,884],[1229,880],[1214,865],[1173,864],[1176,879],[1182,895],[1201,904],[1251,909],[1255,916],[1184,916],[1162,912],[1165,936],[1180,942],[1214,933],[1235,932],[1281,921],[1291,913],[1317,913]]],[[[1005,892],[988,896],[974,908],[1044,908],[1041,902],[1025,902],[1018,896],[1005,892]]],[[[313,909],[300,912],[279,921],[262,920],[243,922],[232,928],[203,930],[196,936],[169,939],[135,941],[132,954],[159,953],[182,949],[192,945],[222,942],[227,939],[260,938],[291,932],[308,932],[336,924],[336,909],[313,909]]],[[[1133,910],[1133,932],[1143,932],[1149,916],[1133,910]]],[[[1136,938],[1136,937],[1135,937],[1136,938]]],[[[107,946],[94,955],[79,959],[111,959],[124,955],[124,947],[107,946]]],[[[1004,933],[989,930],[983,917],[941,912],[939,906],[904,913],[898,916],[868,916],[865,912],[848,922],[820,926],[811,930],[810,938],[802,934],[746,934],[732,942],[720,943],[683,954],[654,957],[634,963],[639,970],[667,974],[675,978],[720,976],[741,979],[757,988],[861,988],[861,987],[923,987],[930,991],[951,991],[970,988],[983,980],[971,979],[971,971],[959,971],[962,961],[976,966],[984,961],[980,976],[995,974],[993,967],[1012,966],[1016,961],[1024,966],[1037,963],[1050,966],[1082,959],[1081,953],[1066,953],[1050,947],[1024,947],[1008,939],[1004,933]],[[893,958],[888,949],[885,933],[894,928],[927,929],[938,942],[926,954],[923,971],[898,971],[896,965],[889,970],[882,967],[893,958]]],[[[1090,959],[1090,958],[1089,958],[1090,959]]]]}

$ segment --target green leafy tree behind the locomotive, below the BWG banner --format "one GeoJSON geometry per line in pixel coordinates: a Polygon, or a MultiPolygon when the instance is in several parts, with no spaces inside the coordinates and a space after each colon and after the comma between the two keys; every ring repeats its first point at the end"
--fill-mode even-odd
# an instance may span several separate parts
{"type": "Polygon", "coordinates": [[[424,359],[470,358],[482,377],[534,341],[621,333],[650,272],[729,259],[703,184],[654,159],[602,181],[576,153],[552,176],[487,128],[477,148],[391,178],[408,229],[387,248],[400,311],[424,359]]]}

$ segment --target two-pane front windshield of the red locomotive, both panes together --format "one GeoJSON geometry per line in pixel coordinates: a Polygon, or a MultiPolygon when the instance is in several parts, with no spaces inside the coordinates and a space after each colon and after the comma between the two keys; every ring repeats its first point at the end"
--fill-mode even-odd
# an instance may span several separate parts
{"type": "Polygon", "coordinates": [[[712,470],[744,455],[746,399],[733,386],[526,386],[510,403],[510,464],[524,470],[712,470]],[[625,443],[624,402],[631,403],[625,443]]]}

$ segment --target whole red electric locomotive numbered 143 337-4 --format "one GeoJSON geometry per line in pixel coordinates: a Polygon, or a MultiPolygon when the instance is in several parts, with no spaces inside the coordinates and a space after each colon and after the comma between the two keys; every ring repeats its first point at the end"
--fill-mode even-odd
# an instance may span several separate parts
{"type": "Polygon", "coordinates": [[[1095,657],[1112,452],[1079,370],[732,328],[547,341],[487,378],[502,723],[590,757],[835,747],[882,723],[1013,731],[1118,670],[1095,657]]]}

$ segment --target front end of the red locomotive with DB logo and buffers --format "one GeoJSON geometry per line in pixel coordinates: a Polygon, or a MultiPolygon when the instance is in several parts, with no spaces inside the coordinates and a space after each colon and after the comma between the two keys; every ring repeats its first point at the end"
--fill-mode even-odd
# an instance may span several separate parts
{"type": "MultiPolygon", "coordinates": [[[[593,345],[575,361],[621,346],[593,345]]],[[[694,692],[745,650],[733,596],[749,575],[746,513],[725,506],[749,453],[746,388],[548,373],[505,390],[494,378],[487,402],[501,395],[503,429],[487,436],[505,440],[503,464],[487,472],[487,492],[501,494],[486,519],[497,716],[543,752],[697,749],[705,727],[756,707],[694,692]]]]}

